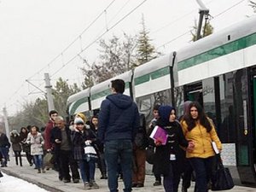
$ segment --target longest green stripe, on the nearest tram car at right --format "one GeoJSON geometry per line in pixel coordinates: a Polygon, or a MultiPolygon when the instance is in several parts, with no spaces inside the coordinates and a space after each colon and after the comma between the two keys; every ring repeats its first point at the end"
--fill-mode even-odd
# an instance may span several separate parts
{"type": "Polygon", "coordinates": [[[228,55],[240,49],[245,49],[256,44],[256,33],[248,35],[244,38],[239,38],[236,41],[230,42],[229,44],[224,44],[217,48],[208,50],[200,55],[195,55],[184,61],[177,63],[177,71],[181,71],[185,68],[193,67],[195,65],[201,64],[206,61],[218,58],[219,56],[228,55]]]}

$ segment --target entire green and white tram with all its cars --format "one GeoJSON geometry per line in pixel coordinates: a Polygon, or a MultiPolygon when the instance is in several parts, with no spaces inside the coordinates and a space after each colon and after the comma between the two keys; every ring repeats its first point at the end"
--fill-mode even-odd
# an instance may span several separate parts
{"type": "MultiPolygon", "coordinates": [[[[223,143],[224,166],[236,183],[256,186],[256,17],[113,79],[125,80],[125,94],[148,120],[156,103],[183,113],[184,101],[200,102],[223,143]]],[[[70,96],[69,114],[98,113],[110,81],[70,96]]]]}

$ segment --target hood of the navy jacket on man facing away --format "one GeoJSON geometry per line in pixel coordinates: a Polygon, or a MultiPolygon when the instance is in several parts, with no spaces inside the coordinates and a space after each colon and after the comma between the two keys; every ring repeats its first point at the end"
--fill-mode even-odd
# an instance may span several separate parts
{"type": "Polygon", "coordinates": [[[113,94],[113,95],[109,95],[107,96],[107,99],[110,102],[113,102],[113,104],[118,107],[118,108],[129,108],[132,104],[132,100],[131,100],[131,96],[125,96],[123,94],[113,94]]]}

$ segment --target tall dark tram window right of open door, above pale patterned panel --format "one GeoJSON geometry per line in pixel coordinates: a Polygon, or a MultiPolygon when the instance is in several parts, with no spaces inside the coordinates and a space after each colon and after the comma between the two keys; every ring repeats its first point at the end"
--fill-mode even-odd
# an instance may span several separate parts
{"type": "Polygon", "coordinates": [[[247,73],[245,69],[226,73],[219,77],[221,124],[219,137],[223,143],[246,142],[243,137],[244,101],[247,101],[247,73]],[[244,140],[244,141],[243,141],[244,140]]]}

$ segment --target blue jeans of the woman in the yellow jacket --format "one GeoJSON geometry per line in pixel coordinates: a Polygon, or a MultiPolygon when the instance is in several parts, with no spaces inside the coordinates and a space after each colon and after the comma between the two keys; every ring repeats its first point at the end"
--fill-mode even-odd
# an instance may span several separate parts
{"type": "Polygon", "coordinates": [[[195,170],[196,192],[207,192],[207,183],[212,177],[214,156],[208,158],[189,158],[189,162],[195,170]]]}

